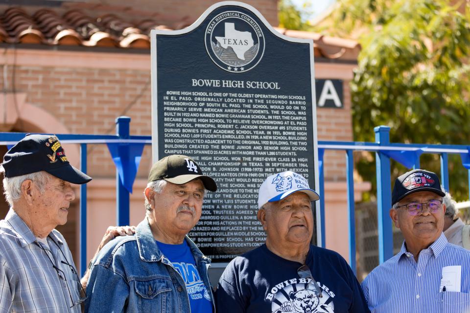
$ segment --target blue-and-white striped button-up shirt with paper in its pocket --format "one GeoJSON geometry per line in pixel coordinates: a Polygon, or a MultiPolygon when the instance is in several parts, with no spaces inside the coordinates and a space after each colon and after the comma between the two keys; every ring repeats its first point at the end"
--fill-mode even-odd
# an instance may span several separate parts
{"type": "Polygon", "coordinates": [[[372,313],[469,313],[470,251],[441,234],[416,262],[403,243],[397,255],[366,277],[362,290],[372,313]],[[460,292],[439,291],[447,266],[461,266],[460,292]]]}

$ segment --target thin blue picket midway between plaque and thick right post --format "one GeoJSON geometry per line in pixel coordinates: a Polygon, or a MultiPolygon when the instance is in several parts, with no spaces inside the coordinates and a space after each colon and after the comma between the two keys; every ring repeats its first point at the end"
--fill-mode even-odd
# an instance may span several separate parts
{"type": "Polygon", "coordinates": [[[354,162],[352,150],[346,151],[346,180],[348,182],[349,265],[356,273],[356,224],[354,218],[354,162]]]}

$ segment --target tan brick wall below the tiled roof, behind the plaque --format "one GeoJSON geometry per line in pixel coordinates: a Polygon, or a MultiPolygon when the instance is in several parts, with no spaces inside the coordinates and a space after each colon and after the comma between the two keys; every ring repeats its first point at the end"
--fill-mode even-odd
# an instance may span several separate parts
{"type": "MultiPolygon", "coordinates": [[[[12,84],[13,67],[8,69],[12,84]]],[[[150,73],[138,70],[93,68],[15,67],[15,90],[26,102],[51,112],[72,134],[115,134],[115,119],[131,117],[131,134],[151,134],[150,73]]],[[[0,84],[3,84],[0,77],[0,84]]],[[[352,140],[351,100],[344,81],[344,108],[317,108],[318,140],[352,140]]],[[[27,114],[27,112],[24,112],[27,114]]],[[[22,114],[24,114],[22,113],[22,114]]],[[[25,128],[20,131],[37,131],[25,128]]],[[[113,177],[115,166],[105,145],[90,145],[88,170],[96,178],[113,177]]],[[[146,147],[138,177],[145,178],[151,164],[146,147]]],[[[325,179],[345,179],[343,152],[325,153],[325,179]]]]}

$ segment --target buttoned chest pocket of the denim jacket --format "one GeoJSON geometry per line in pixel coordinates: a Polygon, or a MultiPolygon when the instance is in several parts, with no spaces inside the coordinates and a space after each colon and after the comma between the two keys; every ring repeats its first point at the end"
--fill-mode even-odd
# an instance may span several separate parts
{"type": "Polygon", "coordinates": [[[171,280],[165,278],[135,280],[139,312],[172,312],[167,305],[171,292],[171,280]]]}

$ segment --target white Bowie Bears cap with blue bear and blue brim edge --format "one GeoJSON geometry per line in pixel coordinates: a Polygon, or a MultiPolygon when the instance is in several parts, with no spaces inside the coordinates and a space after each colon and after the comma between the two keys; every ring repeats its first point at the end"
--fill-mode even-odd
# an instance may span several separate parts
{"type": "Polygon", "coordinates": [[[308,180],[302,175],[286,171],[269,176],[261,184],[258,191],[258,209],[267,202],[282,200],[296,191],[302,191],[311,201],[320,199],[315,190],[310,189],[308,180]]]}

